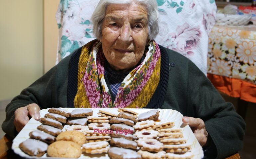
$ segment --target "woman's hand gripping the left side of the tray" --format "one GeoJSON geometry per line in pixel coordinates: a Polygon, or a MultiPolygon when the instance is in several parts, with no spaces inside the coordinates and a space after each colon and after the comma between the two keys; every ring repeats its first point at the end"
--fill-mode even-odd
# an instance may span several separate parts
{"type": "Polygon", "coordinates": [[[22,128],[29,122],[29,116],[33,117],[36,120],[40,119],[40,107],[35,104],[29,104],[25,107],[18,108],[15,111],[15,118],[14,118],[14,126],[16,127],[16,130],[20,132],[22,128]]]}

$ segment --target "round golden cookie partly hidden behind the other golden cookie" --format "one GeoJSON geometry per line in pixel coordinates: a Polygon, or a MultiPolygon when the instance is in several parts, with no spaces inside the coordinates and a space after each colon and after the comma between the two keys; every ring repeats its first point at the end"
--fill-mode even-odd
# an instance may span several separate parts
{"type": "Polygon", "coordinates": [[[65,141],[73,141],[78,145],[82,146],[85,143],[85,135],[82,132],[78,131],[66,131],[61,132],[57,137],[57,141],[65,140],[65,141]]]}

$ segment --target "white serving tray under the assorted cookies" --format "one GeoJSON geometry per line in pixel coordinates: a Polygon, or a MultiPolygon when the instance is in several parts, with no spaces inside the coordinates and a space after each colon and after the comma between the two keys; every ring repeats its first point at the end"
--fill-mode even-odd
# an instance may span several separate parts
{"type": "MultiPolygon", "coordinates": [[[[40,111],[41,117],[44,117],[45,114],[49,113],[48,109],[43,109],[40,111]]],[[[72,110],[77,109],[77,108],[61,108],[61,109],[71,112],[72,110]]],[[[93,116],[98,116],[97,113],[98,113],[99,109],[100,108],[92,108],[93,116]]],[[[116,113],[116,114],[119,113],[117,111],[118,110],[117,108],[107,108],[104,110],[110,111],[110,112],[116,113]]],[[[130,109],[130,110],[141,114],[141,113],[150,111],[151,109],[130,109]]],[[[187,143],[192,145],[191,152],[194,154],[193,159],[203,158],[202,147],[200,146],[199,142],[195,138],[192,130],[190,129],[190,127],[188,125],[185,126],[182,123],[183,115],[180,112],[178,112],[176,110],[172,110],[172,109],[158,109],[158,110],[160,111],[159,119],[167,119],[171,122],[174,122],[175,126],[173,127],[173,129],[179,128],[179,129],[183,130],[182,132],[183,132],[184,138],[187,139],[187,143]]],[[[31,118],[30,121],[27,123],[27,125],[25,125],[25,127],[21,130],[21,132],[14,138],[13,144],[12,144],[12,149],[16,154],[19,154],[20,156],[25,157],[25,158],[47,158],[47,159],[52,158],[52,157],[47,157],[47,154],[44,154],[42,157],[29,156],[29,155],[25,154],[23,151],[21,151],[21,149],[19,148],[19,144],[29,138],[29,132],[36,130],[39,125],[41,125],[41,123],[39,121],[36,121],[34,118],[31,118]]],[[[79,158],[109,159],[107,154],[90,155],[90,156],[84,156],[84,154],[82,154],[79,158]]]]}

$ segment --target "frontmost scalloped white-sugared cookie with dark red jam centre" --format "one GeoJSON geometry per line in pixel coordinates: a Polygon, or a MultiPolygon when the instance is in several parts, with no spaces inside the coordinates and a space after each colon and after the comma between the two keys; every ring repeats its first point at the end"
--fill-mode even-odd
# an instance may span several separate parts
{"type": "Polygon", "coordinates": [[[138,146],[143,151],[159,152],[159,151],[163,151],[163,148],[164,148],[163,143],[152,138],[139,138],[137,140],[137,143],[138,143],[138,146]]]}

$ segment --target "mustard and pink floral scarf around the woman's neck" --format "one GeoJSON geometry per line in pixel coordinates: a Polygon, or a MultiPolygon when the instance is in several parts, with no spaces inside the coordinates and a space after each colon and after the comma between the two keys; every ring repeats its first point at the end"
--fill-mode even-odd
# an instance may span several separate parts
{"type": "Polygon", "coordinates": [[[104,79],[105,57],[102,44],[93,40],[82,47],[78,61],[75,108],[143,108],[152,98],[159,80],[161,54],[151,41],[145,59],[122,81],[112,104],[104,79]]]}

